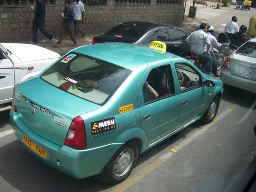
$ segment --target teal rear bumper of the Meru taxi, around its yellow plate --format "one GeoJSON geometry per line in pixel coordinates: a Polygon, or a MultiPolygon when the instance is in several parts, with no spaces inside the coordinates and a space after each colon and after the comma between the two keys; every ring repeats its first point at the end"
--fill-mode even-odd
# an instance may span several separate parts
{"type": "Polygon", "coordinates": [[[65,145],[58,146],[32,132],[20,120],[18,112],[15,113],[13,109],[10,111],[10,120],[17,139],[29,152],[55,169],[74,178],[86,178],[101,173],[111,158],[112,152],[115,152],[122,145],[122,143],[117,143],[86,150],[76,150],[65,145]],[[47,157],[44,159],[23,143],[23,135],[47,150],[47,157]]]}

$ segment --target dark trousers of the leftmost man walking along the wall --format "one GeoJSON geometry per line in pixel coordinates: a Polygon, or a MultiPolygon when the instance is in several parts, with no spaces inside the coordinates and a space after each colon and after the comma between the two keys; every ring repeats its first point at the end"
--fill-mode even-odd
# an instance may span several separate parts
{"type": "Polygon", "coordinates": [[[33,32],[33,39],[32,41],[34,43],[38,43],[37,41],[37,31],[41,31],[42,34],[44,34],[45,37],[47,37],[49,40],[53,38],[52,34],[49,34],[46,29],[44,29],[44,18],[34,19],[33,20],[33,26],[32,26],[32,32],[33,32]]]}

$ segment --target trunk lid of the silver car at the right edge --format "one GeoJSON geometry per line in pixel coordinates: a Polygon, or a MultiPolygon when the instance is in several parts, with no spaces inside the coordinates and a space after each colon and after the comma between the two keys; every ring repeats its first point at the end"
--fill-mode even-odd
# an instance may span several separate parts
{"type": "Polygon", "coordinates": [[[230,74],[256,80],[256,58],[233,54],[230,57],[230,74]]]}

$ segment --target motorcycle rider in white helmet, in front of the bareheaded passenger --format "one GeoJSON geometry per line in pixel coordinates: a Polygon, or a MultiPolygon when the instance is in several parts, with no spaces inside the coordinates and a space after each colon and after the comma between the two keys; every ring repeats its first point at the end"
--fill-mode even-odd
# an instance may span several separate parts
{"type": "Polygon", "coordinates": [[[215,46],[215,47],[221,47],[223,44],[221,43],[218,43],[218,41],[216,40],[216,38],[212,35],[212,32],[214,32],[214,28],[212,25],[208,25],[207,26],[207,34],[209,36],[209,40],[211,42],[211,45],[210,45],[210,54],[212,56],[212,59],[213,59],[213,63],[212,63],[212,74],[214,77],[220,77],[220,75],[217,74],[217,60],[216,60],[216,57],[215,57],[215,54],[213,53],[212,51],[212,46],[215,46]]]}

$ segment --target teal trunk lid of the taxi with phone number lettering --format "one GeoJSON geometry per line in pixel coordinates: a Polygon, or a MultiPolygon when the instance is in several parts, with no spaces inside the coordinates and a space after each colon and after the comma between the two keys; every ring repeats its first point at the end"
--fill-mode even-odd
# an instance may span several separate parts
{"type": "Polygon", "coordinates": [[[19,98],[15,106],[20,119],[33,132],[60,146],[64,145],[74,117],[100,107],[39,77],[18,84],[15,95],[19,98]]]}

